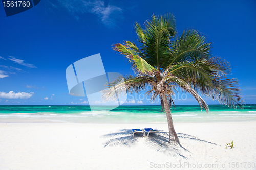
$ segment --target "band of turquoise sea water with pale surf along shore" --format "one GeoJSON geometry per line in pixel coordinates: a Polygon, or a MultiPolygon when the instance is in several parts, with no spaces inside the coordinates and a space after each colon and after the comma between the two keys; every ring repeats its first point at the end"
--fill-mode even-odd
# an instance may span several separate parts
{"type": "MultiPolygon", "coordinates": [[[[0,122],[81,122],[81,123],[166,123],[161,106],[119,106],[104,111],[107,106],[17,106],[0,105],[0,122]]],[[[179,105],[172,108],[174,122],[218,122],[256,120],[256,105],[233,109],[225,105],[209,105],[210,112],[199,105],[179,105]]]]}

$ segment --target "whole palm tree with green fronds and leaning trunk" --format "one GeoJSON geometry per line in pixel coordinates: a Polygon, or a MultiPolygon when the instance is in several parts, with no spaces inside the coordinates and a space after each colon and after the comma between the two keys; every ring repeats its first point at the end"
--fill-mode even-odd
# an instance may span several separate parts
{"type": "Polygon", "coordinates": [[[145,29],[142,29],[139,23],[135,23],[139,47],[130,41],[113,45],[114,50],[128,59],[136,76],[126,75],[122,83],[122,78],[118,77],[109,83],[102,95],[105,100],[116,100],[118,95],[129,92],[139,93],[150,86],[146,95],[150,95],[153,101],[160,98],[162,111],[167,117],[169,142],[174,143],[179,143],[179,138],[170,107],[174,104],[173,95],[178,87],[193,95],[201,110],[203,107],[207,113],[208,105],[199,92],[221,104],[234,108],[238,105],[242,109],[238,80],[228,77],[230,65],[227,61],[212,57],[211,43],[204,35],[195,29],[184,30],[178,35],[172,14],[153,15],[152,20],[144,25],[145,29]]]}

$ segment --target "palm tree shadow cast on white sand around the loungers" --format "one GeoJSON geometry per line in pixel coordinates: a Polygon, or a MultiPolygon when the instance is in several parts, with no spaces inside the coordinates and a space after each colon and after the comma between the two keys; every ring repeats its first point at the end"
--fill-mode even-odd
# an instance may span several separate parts
{"type": "MultiPolygon", "coordinates": [[[[195,140],[200,142],[205,142],[209,144],[218,145],[216,143],[212,143],[209,141],[201,140],[195,136],[191,136],[184,133],[177,133],[179,138],[184,138],[187,140],[195,140]]],[[[159,137],[156,134],[150,134],[150,137],[142,138],[142,134],[135,134],[133,137],[131,129],[122,129],[120,132],[116,133],[109,133],[102,136],[103,138],[111,138],[108,141],[104,142],[104,147],[115,147],[118,145],[126,145],[127,147],[132,147],[135,145],[139,140],[144,139],[144,144],[148,148],[152,148],[158,152],[164,153],[166,155],[175,156],[175,157],[183,157],[183,153],[189,152],[187,149],[182,147],[181,144],[169,143],[169,135],[167,132],[161,132],[159,137]]]]}

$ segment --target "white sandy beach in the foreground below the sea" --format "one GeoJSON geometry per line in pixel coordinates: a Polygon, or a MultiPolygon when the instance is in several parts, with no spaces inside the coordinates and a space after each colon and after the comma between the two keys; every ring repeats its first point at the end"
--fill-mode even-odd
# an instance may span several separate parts
{"type": "Polygon", "coordinates": [[[0,123],[0,169],[256,169],[254,121],[175,129],[187,151],[165,144],[167,124],[0,123]],[[133,138],[132,128],[163,131],[133,138]]]}

